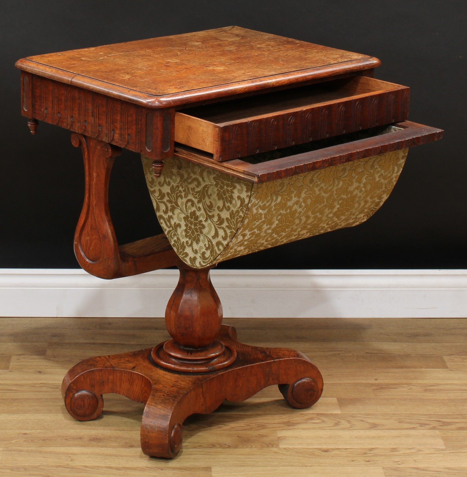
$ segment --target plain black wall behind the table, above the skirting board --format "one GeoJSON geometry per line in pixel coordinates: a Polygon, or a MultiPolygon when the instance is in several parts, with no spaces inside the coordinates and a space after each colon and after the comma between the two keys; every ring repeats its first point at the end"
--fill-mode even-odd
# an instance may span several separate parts
{"type": "MultiPolygon", "coordinates": [[[[367,222],[223,268],[467,268],[466,2],[0,0],[0,268],[75,268],[81,152],[20,113],[19,58],[239,25],[382,61],[375,76],[411,87],[409,119],[446,129],[411,149],[392,195],[367,222]]],[[[111,211],[121,243],[158,233],[139,156],[115,161],[111,211]]]]}

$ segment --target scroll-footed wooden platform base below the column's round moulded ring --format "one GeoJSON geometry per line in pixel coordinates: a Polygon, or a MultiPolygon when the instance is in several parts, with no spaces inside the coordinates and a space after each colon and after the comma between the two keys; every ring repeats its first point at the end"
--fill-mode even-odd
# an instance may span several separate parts
{"type": "MultiPolygon", "coordinates": [[[[232,326],[216,337],[237,352],[230,366],[208,373],[180,373],[156,365],[152,348],[90,358],[66,374],[62,394],[67,411],[79,421],[98,417],[103,394],[117,393],[145,403],[141,447],[148,456],[175,457],[183,440],[183,421],[208,414],[224,400],[240,402],[278,384],[288,404],[306,408],[322,394],[319,370],[302,353],[285,348],[259,348],[237,341],[232,326]]],[[[157,347],[156,347],[157,348],[157,347]]]]}

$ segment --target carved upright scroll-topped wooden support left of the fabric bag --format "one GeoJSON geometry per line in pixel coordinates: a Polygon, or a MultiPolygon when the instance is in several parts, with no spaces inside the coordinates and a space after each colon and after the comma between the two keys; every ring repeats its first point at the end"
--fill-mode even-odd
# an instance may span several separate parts
{"type": "Polygon", "coordinates": [[[114,157],[121,154],[121,149],[77,133],[72,134],[72,143],[81,146],[86,177],[74,253],[87,272],[100,278],[115,278],[120,276],[121,260],[107,199],[114,157]]]}

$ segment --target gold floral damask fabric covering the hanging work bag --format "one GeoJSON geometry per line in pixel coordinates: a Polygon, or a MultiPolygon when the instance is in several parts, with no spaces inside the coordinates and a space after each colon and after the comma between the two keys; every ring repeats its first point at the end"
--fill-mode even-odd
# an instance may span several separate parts
{"type": "Polygon", "coordinates": [[[203,268],[371,217],[391,193],[408,149],[250,183],[173,157],[156,178],[142,157],[157,218],[178,256],[203,268]]]}

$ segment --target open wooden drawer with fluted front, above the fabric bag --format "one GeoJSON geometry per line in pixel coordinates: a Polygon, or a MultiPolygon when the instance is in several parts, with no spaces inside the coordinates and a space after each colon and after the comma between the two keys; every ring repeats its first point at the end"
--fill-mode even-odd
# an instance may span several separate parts
{"type": "Polygon", "coordinates": [[[353,76],[187,108],[175,141],[228,161],[407,119],[409,88],[353,76]]]}

